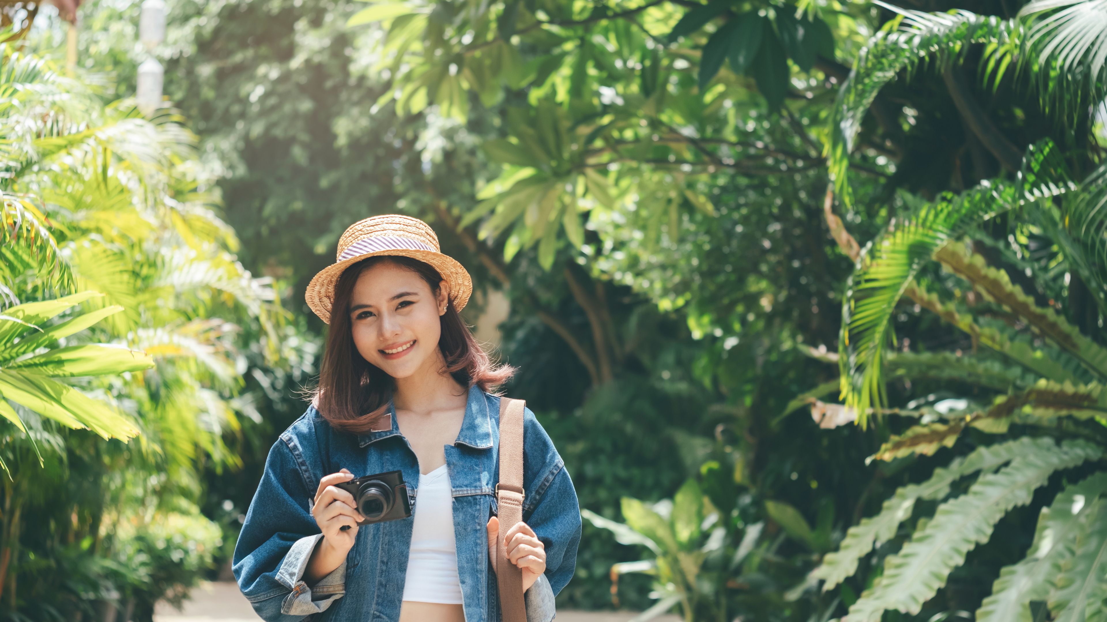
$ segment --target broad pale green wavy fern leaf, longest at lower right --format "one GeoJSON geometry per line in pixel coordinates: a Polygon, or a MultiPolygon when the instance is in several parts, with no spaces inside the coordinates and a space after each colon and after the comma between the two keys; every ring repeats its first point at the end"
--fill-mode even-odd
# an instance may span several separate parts
{"type": "Polygon", "coordinates": [[[939,506],[934,517],[884,560],[883,574],[849,608],[844,622],[879,622],[888,610],[919,613],[965,554],[987,541],[1007,511],[1028,504],[1054,471],[1103,455],[1099,447],[1083,440],[1058,447],[1049,438],[1037,438],[1033,444],[1008,466],[981,476],[968,493],[939,506]]]}

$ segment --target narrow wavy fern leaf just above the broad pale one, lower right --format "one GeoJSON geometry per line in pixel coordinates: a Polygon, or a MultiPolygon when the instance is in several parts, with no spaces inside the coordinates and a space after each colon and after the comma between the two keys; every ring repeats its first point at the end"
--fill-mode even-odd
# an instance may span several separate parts
{"type": "Polygon", "coordinates": [[[873,547],[891,540],[900,523],[914,510],[919,499],[941,499],[949,495],[950,486],[977,470],[992,471],[1000,466],[1033,450],[1041,442],[1020,438],[1008,443],[979,447],[964,457],[955,458],[949,466],[934,469],[930,479],[910,484],[896,490],[884,501],[880,514],[861,520],[849,528],[837,551],[827,553],[813,577],[823,579],[823,591],[832,589],[857,571],[857,564],[873,547]]]}

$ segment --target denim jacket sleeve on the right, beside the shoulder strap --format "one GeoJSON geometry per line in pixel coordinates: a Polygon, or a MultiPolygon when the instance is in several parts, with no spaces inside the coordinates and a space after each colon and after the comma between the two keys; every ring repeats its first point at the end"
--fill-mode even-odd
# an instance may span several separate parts
{"type": "Polygon", "coordinates": [[[545,578],[557,595],[577,569],[580,505],[561,456],[530,408],[524,414],[524,447],[523,520],[546,546],[545,578]]]}

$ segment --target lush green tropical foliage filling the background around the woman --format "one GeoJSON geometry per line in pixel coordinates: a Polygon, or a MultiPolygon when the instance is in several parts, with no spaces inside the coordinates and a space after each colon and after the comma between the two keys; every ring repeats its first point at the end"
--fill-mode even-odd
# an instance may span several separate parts
{"type": "Polygon", "coordinates": [[[0,618],[230,578],[402,212],[573,478],[559,607],[1107,620],[1104,0],[80,4],[0,2],[0,618]]]}

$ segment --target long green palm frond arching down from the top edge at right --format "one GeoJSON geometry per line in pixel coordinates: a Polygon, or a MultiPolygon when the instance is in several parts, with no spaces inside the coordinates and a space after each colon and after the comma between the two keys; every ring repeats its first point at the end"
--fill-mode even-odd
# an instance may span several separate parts
{"type": "Polygon", "coordinates": [[[972,43],[1005,41],[1012,22],[991,15],[954,9],[946,13],[909,11],[883,4],[900,13],[875,34],[857,55],[853,70],[838,91],[830,108],[827,166],[839,199],[850,205],[849,154],[861,122],[884,84],[904,70],[934,58],[948,62],[972,43]],[[896,30],[897,28],[900,28],[896,30]]]}

